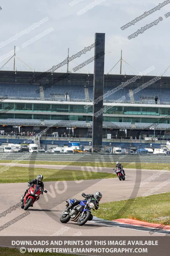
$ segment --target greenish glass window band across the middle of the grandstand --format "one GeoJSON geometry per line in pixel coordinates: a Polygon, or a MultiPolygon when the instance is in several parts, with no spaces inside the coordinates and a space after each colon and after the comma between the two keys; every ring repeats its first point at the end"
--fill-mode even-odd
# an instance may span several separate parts
{"type": "MultiPolygon", "coordinates": [[[[54,119],[54,120],[77,120],[77,121],[92,121],[93,106],[84,108],[84,105],[72,105],[72,104],[41,104],[41,103],[24,103],[24,102],[0,102],[1,119],[6,118],[26,118],[26,119],[54,119]],[[9,113],[13,111],[13,113],[9,113]],[[4,110],[4,112],[3,112],[4,110]],[[21,112],[19,113],[15,113],[21,112]],[[29,114],[25,114],[24,111],[30,111],[29,114]],[[22,113],[23,112],[23,113],[22,113]],[[35,113],[37,112],[37,113],[35,113]],[[48,113],[45,113],[48,112],[48,113]],[[50,112],[56,113],[51,115],[50,112]],[[57,115],[57,113],[63,112],[63,115],[57,115]],[[44,113],[44,114],[43,114],[44,113]],[[69,114],[70,113],[70,114],[69,114]],[[66,114],[66,115],[64,115],[66,114]],[[78,114],[78,115],[76,115],[78,114]]],[[[104,106],[104,114],[119,115],[119,116],[103,116],[103,121],[107,122],[131,122],[132,124],[138,122],[142,123],[158,123],[162,116],[170,115],[170,108],[155,108],[155,107],[132,107],[132,106],[113,106],[106,109],[104,106]],[[130,116],[126,116],[130,115],[130,116]],[[138,115],[134,117],[133,115],[138,115]],[[148,116],[148,117],[143,117],[148,116]],[[155,116],[151,118],[149,116],[155,116]]],[[[170,119],[165,118],[161,123],[168,123],[170,119]]]]}

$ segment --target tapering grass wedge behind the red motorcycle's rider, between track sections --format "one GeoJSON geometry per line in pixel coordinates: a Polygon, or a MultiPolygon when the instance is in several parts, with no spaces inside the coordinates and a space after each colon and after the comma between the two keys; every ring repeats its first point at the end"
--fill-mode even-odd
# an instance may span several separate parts
{"type": "Polygon", "coordinates": [[[46,181],[66,181],[66,180],[93,180],[93,179],[108,179],[116,178],[116,174],[107,172],[85,172],[74,170],[55,170],[43,168],[28,168],[28,167],[10,167],[7,171],[1,172],[0,168],[0,183],[17,183],[27,182],[35,179],[38,174],[43,174],[43,182],[46,181]]]}

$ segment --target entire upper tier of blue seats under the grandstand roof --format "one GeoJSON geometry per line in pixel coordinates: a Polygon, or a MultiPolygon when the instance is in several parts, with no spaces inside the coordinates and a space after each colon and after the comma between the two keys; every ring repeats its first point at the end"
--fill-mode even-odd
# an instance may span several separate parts
{"type": "MultiPolygon", "coordinates": [[[[18,83],[0,83],[0,97],[7,95],[9,99],[23,99],[23,100],[40,100],[40,84],[18,84],[18,83]]],[[[113,90],[114,87],[104,87],[104,95],[113,90]]],[[[89,98],[93,100],[93,87],[88,87],[89,98]]],[[[79,85],[52,85],[44,89],[44,100],[51,100],[52,95],[65,95],[68,92],[70,101],[85,101],[85,88],[79,85]]],[[[117,92],[111,93],[107,97],[104,96],[104,102],[116,102],[125,96],[124,102],[130,102],[129,89],[123,88],[117,92]]],[[[155,89],[144,88],[143,90],[134,94],[136,103],[141,103],[141,98],[148,98],[148,101],[154,103],[155,96],[158,96],[160,104],[170,103],[170,90],[168,89],[155,89]]],[[[63,98],[64,100],[64,98],[63,98]]]]}

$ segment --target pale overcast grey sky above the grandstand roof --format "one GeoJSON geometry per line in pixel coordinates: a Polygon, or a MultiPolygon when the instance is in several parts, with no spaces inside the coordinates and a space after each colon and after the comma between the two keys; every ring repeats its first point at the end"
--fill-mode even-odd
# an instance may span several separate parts
{"type": "MultiPolygon", "coordinates": [[[[78,1],[78,0],[77,0],[78,1]]],[[[156,7],[161,0],[100,0],[100,4],[88,9],[85,13],[77,15],[95,0],[81,0],[71,6],[71,0],[1,0],[0,23],[1,42],[8,40],[16,33],[48,17],[48,20],[29,33],[20,36],[17,40],[0,48],[0,68],[10,58],[4,59],[3,55],[19,47],[16,55],[35,71],[46,71],[53,65],[57,65],[67,57],[68,47],[70,56],[94,43],[95,33],[105,33],[105,74],[122,58],[137,71],[154,66],[150,75],[160,75],[170,65],[169,60],[169,24],[170,17],[165,14],[170,12],[170,3],[160,10],[139,20],[135,25],[124,30],[123,25],[134,20],[144,12],[156,7]],[[146,24],[162,17],[163,20],[152,28],[128,39],[128,36],[136,32],[146,24]],[[43,31],[52,28],[47,35],[36,40],[32,44],[22,48],[21,44],[32,39],[43,31]],[[2,57],[2,58],[1,58],[2,57]]],[[[97,0],[99,1],[99,0],[97,0]]],[[[69,70],[94,56],[94,48],[69,63],[69,70]]],[[[17,70],[30,71],[19,60],[16,60],[17,70]]],[[[66,65],[55,72],[66,72],[66,65]]],[[[125,72],[122,74],[137,74],[133,68],[124,64],[125,72]]],[[[94,63],[90,63],[78,70],[78,73],[93,73],[94,63]]],[[[8,62],[1,70],[13,70],[13,61],[8,62]]],[[[110,74],[119,74],[120,65],[116,66],[110,74]]],[[[166,72],[170,76],[170,68],[166,72]]]]}

